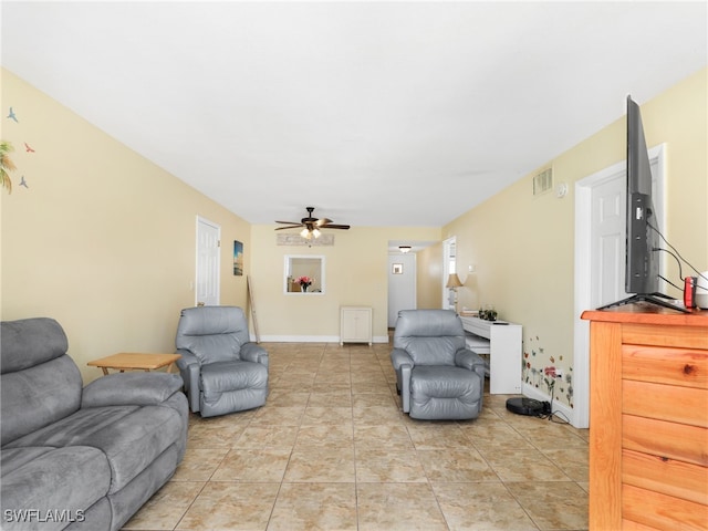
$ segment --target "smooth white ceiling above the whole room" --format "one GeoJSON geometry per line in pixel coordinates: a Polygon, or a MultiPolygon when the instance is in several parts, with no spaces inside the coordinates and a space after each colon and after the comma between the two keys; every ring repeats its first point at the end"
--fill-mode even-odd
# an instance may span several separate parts
{"type": "Polygon", "coordinates": [[[708,49],[705,1],[0,9],[4,67],[252,223],[439,227],[708,49]]]}

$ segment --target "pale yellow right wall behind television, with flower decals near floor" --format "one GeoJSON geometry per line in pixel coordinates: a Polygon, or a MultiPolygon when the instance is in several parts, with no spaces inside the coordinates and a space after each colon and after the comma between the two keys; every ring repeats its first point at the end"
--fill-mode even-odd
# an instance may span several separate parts
{"type": "MultiPolygon", "coordinates": [[[[641,102],[647,145],[666,144],[665,235],[700,271],[708,269],[707,72],[641,102]]],[[[494,304],[502,319],[523,324],[524,377],[542,392],[534,371],[556,365],[569,374],[573,363],[574,184],[625,158],[625,127],[620,118],[543,166],[569,185],[566,197],[534,198],[533,173],[442,228],[444,238],[457,237],[459,308],[494,304]]],[[[678,278],[673,264],[668,273],[678,278]]],[[[573,403],[568,385],[555,397],[573,403]]]]}

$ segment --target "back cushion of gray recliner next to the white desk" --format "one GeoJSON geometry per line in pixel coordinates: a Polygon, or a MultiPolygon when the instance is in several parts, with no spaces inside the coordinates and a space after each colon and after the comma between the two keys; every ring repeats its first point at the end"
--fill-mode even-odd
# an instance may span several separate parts
{"type": "Polygon", "coordinates": [[[455,365],[455,354],[465,348],[465,329],[450,310],[402,310],[394,347],[405,350],[416,365],[455,365]]]}

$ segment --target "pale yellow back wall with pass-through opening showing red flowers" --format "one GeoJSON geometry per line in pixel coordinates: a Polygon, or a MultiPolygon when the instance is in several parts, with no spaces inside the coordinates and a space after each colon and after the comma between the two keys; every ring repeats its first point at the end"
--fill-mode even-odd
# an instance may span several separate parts
{"type": "Polygon", "coordinates": [[[388,241],[440,238],[439,228],[353,227],[329,230],[334,236],[332,247],[287,247],[275,243],[274,228],[254,225],[251,231],[253,294],[258,329],[264,341],[336,340],[342,305],[372,306],[374,339],[384,341],[388,324],[388,241]],[[287,254],[324,257],[323,294],[283,292],[287,254]]]}

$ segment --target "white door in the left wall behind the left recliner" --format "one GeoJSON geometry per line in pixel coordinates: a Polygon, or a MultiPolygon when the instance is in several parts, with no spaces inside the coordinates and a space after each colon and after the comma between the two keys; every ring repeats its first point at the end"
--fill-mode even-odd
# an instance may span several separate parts
{"type": "Polygon", "coordinates": [[[197,216],[197,305],[219,304],[219,249],[221,228],[197,216]]]}

